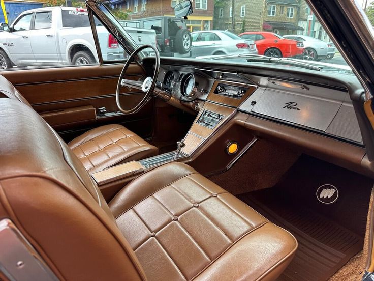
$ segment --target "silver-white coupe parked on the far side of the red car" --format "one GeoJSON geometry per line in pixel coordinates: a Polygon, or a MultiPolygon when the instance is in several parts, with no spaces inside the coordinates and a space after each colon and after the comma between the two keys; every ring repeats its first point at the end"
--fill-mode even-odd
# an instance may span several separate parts
{"type": "Polygon", "coordinates": [[[284,38],[304,44],[303,60],[319,61],[331,59],[335,55],[335,45],[307,35],[284,35],[284,38]]]}

